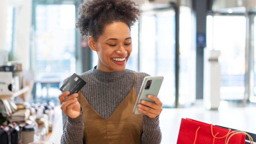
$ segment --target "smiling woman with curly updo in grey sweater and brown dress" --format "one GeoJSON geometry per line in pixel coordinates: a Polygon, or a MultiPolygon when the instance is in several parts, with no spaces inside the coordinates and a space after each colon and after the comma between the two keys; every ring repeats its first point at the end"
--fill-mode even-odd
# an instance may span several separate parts
{"type": "MultiPolygon", "coordinates": [[[[140,11],[131,0],[90,0],[80,5],[76,27],[98,54],[94,69],[80,75],[87,84],[76,94],[59,96],[62,144],[159,144],[162,103],[142,101],[132,113],[146,73],[125,69],[132,52],[131,26],[140,11]]],[[[65,80],[66,81],[66,80],[65,80]]],[[[65,82],[64,81],[64,82],[65,82]]]]}

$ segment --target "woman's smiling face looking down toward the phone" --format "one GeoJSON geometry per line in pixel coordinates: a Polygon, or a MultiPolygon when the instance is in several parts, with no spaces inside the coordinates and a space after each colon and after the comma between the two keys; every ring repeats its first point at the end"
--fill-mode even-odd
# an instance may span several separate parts
{"type": "Polygon", "coordinates": [[[123,71],[132,52],[131,31],[127,24],[114,22],[105,27],[98,41],[90,36],[89,46],[97,51],[97,69],[106,72],[123,71]]]}

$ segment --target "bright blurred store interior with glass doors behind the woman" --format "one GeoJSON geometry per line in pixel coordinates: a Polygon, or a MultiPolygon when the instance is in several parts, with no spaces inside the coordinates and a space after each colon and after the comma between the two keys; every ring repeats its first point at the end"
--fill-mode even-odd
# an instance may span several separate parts
{"type": "MultiPolygon", "coordinates": [[[[131,29],[133,51],[126,68],[164,76],[158,95],[164,108],[162,144],[177,142],[181,118],[186,117],[256,133],[256,1],[134,1],[142,14],[131,29]],[[219,81],[211,79],[211,50],[220,52],[219,81]],[[220,84],[219,107],[208,110],[204,99],[215,83],[220,84]]],[[[47,137],[56,144],[62,135],[58,96],[63,80],[92,69],[98,61],[75,28],[80,3],[0,1],[0,50],[8,51],[9,61],[21,62],[26,80],[34,82],[25,101],[56,105],[53,131],[47,137]]]]}

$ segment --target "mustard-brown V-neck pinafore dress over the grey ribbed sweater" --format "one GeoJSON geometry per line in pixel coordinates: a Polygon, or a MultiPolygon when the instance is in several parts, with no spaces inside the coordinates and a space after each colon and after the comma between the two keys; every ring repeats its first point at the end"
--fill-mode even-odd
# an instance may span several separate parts
{"type": "Polygon", "coordinates": [[[78,92],[77,99],[83,107],[84,144],[141,143],[143,115],[132,113],[137,100],[134,89],[136,74],[132,90],[108,119],[101,117],[87,102],[83,94],[78,92]]]}

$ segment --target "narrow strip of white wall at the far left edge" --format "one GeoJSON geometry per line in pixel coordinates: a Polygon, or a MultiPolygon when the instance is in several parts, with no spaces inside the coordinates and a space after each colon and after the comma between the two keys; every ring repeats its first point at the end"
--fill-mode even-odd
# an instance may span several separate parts
{"type": "Polygon", "coordinates": [[[6,23],[8,0],[0,0],[0,49],[6,50],[6,23]]]}

